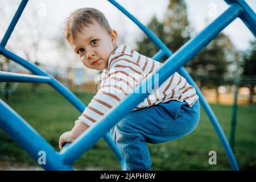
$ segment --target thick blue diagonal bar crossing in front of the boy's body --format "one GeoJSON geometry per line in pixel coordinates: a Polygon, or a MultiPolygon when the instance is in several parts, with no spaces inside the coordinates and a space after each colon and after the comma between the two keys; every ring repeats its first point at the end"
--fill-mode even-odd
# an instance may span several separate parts
{"type": "MultiPolygon", "coordinates": [[[[202,48],[217,36],[230,22],[232,22],[240,13],[240,7],[232,6],[226,10],[219,18],[214,20],[204,31],[198,34],[195,38],[189,40],[183,47],[169,57],[166,62],[156,71],[159,74],[159,85],[161,85],[168,77],[170,77],[176,70],[182,67],[185,63],[192,59],[202,48]]],[[[118,106],[112,108],[105,117],[91,126],[88,130],[84,131],[76,140],[74,140],[67,149],[61,154],[65,163],[69,164],[78,159],[85,151],[89,150],[98,139],[110,130],[119,120],[130,113],[134,107],[144,100],[150,93],[141,93],[139,90],[142,88],[152,88],[152,76],[144,80],[142,84],[135,89],[135,93],[129,94],[122,100],[118,106]]],[[[153,83],[154,84],[154,83],[153,83]]],[[[156,88],[155,88],[156,89],[156,88]]],[[[224,135],[225,136],[225,135],[224,135]]],[[[228,143],[225,143],[228,145],[228,143]]],[[[231,155],[228,157],[232,157],[231,155]]],[[[236,159],[232,158],[236,162],[236,159]]],[[[233,165],[237,169],[236,165],[233,165]]]]}

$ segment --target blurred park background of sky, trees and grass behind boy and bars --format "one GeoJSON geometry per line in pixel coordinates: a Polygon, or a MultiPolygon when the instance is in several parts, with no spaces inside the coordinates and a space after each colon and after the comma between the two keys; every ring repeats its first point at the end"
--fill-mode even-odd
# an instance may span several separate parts
{"type": "MultiPolygon", "coordinates": [[[[228,5],[222,0],[117,2],[158,35],[172,52],[177,51],[228,9],[228,5]]],[[[246,2],[256,11],[255,1],[246,2]]],[[[1,38],[19,3],[18,0],[0,0],[1,38]]],[[[6,48],[50,73],[88,105],[97,92],[100,72],[85,68],[63,36],[65,19],[72,11],[81,7],[101,10],[110,26],[117,30],[118,44],[126,44],[146,56],[153,56],[158,52],[158,48],[129,18],[105,0],[29,1],[6,48]]],[[[167,57],[161,61],[166,59],[167,57]]],[[[240,168],[255,170],[256,41],[253,34],[240,19],[236,19],[184,66],[212,106],[232,144],[240,168]],[[234,98],[237,98],[237,105],[234,105],[234,98]]],[[[0,71],[30,74],[30,71],[2,55],[0,71]]],[[[80,115],[75,107],[46,84],[0,82],[0,98],[57,151],[60,135],[71,130],[80,115]]],[[[153,170],[230,169],[225,151],[203,108],[199,126],[193,133],[172,142],[148,144],[148,147],[153,170]],[[216,151],[217,164],[209,164],[209,151],[216,151]]],[[[103,139],[82,155],[74,163],[74,167],[89,170],[121,169],[103,139]]],[[[40,168],[0,130],[0,169],[40,168]]]]}

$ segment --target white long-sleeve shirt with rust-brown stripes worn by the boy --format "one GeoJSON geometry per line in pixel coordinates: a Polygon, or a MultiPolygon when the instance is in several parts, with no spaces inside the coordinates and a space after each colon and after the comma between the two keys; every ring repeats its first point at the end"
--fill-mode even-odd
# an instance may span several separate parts
{"type": "MultiPolygon", "coordinates": [[[[108,69],[101,75],[100,89],[79,119],[89,126],[92,125],[124,97],[133,93],[134,88],[161,65],[162,63],[141,55],[127,46],[119,46],[110,55],[108,69]]],[[[158,76],[154,75],[154,79],[157,78],[158,76]]],[[[141,92],[143,90],[146,93],[148,88],[142,88],[141,92]]],[[[198,99],[195,88],[175,72],[133,110],[171,100],[185,101],[191,107],[198,99]]]]}

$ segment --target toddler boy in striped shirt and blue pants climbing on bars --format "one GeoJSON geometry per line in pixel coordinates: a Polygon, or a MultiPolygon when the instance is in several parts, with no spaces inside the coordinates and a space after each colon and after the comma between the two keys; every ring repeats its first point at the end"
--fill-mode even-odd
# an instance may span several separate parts
{"type": "MultiPolygon", "coordinates": [[[[67,19],[65,38],[85,67],[104,70],[101,88],[75,122],[61,135],[60,149],[72,142],[116,106],[162,63],[127,46],[117,46],[117,31],[97,9],[82,8],[67,19]]],[[[185,78],[174,73],[158,89],[121,119],[110,134],[129,170],[150,170],[147,143],[162,143],[191,133],[200,118],[198,96],[185,78]]]]}

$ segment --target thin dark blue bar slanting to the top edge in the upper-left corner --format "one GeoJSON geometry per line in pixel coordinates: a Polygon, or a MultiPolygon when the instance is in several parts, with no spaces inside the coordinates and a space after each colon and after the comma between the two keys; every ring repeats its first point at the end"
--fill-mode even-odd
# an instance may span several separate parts
{"type": "Polygon", "coordinates": [[[16,13],[15,13],[15,15],[14,15],[13,20],[11,20],[11,23],[10,23],[10,25],[9,25],[9,27],[8,27],[8,29],[7,29],[7,31],[6,31],[6,33],[5,33],[5,36],[3,36],[3,39],[2,39],[2,41],[1,41],[1,43],[0,43],[1,46],[3,46],[3,47],[6,46],[8,40],[9,40],[9,38],[10,38],[10,36],[11,36],[11,33],[13,32],[14,27],[16,26],[16,23],[17,23],[18,20],[19,20],[20,15],[22,14],[24,8],[25,8],[26,5],[27,5],[27,2],[28,2],[28,0],[22,0],[22,2],[20,2],[20,5],[19,5],[19,7],[18,7],[18,10],[16,11],[16,13]]]}

